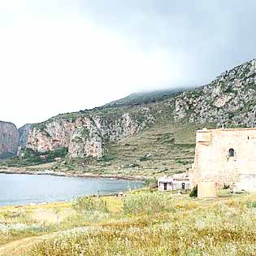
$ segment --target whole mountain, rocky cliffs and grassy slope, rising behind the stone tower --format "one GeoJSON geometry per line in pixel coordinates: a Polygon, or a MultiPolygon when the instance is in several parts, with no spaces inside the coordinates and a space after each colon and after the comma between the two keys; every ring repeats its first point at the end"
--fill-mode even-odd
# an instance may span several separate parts
{"type": "Polygon", "coordinates": [[[68,159],[86,158],[87,167],[96,159],[93,170],[184,171],[193,163],[197,128],[254,127],[255,115],[253,59],[196,89],[133,93],[93,110],[26,125],[19,130],[19,154],[61,150],[68,159]]]}

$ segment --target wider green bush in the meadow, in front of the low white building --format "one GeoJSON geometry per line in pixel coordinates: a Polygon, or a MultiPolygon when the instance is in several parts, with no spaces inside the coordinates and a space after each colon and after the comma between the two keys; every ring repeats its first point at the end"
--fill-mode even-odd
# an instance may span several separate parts
{"type": "Polygon", "coordinates": [[[124,198],[125,215],[152,214],[168,210],[173,210],[171,196],[168,194],[141,193],[124,198]]]}

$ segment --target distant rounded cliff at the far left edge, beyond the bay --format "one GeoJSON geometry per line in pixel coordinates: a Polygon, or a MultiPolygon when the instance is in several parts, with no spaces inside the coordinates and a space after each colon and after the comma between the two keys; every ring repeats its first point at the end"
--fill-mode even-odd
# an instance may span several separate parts
{"type": "Polygon", "coordinates": [[[14,124],[0,121],[0,158],[15,155],[19,145],[19,132],[14,124]]]}

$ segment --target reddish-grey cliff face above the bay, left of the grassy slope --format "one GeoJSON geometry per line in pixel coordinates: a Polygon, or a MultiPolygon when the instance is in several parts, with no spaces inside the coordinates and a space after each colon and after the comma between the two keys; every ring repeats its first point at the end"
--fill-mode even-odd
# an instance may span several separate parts
{"type": "MultiPolygon", "coordinates": [[[[57,150],[67,147],[68,155],[75,157],[102,157],[108,143],[141,131],[154,122],[150,109],[113,115],[80,114],[76,117],[59,115],[42,124],[33,125],[28,132],[25,147],[36,151],[57,150]]],[[[76,113],[77,114],[77,113],[76,113]]]]}

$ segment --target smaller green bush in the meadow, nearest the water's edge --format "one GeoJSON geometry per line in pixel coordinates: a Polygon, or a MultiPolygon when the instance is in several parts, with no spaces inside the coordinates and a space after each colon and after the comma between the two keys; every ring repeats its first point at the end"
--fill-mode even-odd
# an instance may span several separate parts
{"type": "Polygon", "coordinates": [[[72,207],[78,212],[109,212],[102,197],[78,197],[72,207]]]}

